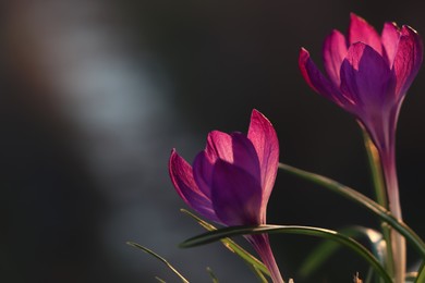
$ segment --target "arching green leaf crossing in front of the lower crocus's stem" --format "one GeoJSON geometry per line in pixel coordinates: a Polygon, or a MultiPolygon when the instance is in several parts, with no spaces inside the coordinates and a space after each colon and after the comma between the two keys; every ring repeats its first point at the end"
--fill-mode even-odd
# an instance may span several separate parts
{"type": "Polygon", "coordinates": [[[298,226],[298,225],[233,226],[233,227],[224,227],[224,229],[207,232],[205,234],[192,237],[190,239],[186,239],[182,244],[180,244],[180,246],[194,247],[194,246],[205,245],[223,237],[244,235],[244,234],[263,234],[263,233],[299,234],[299,235],[307,235],[307,236],[316,236],[321,238],[333,239],[338,243],[345,245],[347,247],[354,250],[357,255],[363,257],[375,269],[375,271],[385,280],[385,282],[388,283],[392,282],[391,278],[388,275],[388,273],[379,263],[379,261],[364,246],[362,246],[353,238],[350,238],[336,231],[331,231],[327,229],[298,226]]]}

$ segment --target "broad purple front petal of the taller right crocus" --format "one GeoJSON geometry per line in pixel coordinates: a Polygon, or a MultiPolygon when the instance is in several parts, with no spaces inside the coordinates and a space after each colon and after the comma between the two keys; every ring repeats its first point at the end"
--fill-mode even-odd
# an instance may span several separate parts
{"type": "Polygon", "coordinates": [[[341,67],[341,90],[355,102],[357,110],[380,107],[389,98],[391,72],[372,47],[357,42],[349,48],[341,67]]]}

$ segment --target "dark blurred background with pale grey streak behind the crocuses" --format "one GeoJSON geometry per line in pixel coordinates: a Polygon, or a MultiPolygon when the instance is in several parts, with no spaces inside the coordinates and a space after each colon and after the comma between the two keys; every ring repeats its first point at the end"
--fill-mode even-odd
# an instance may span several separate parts
{"type": "MultiPolygon", "coordinates": [[[[171,148],[192,161],[211,130],[246,131],[253,108],[279,135],[282,162],[373,196],[352,116],[314,94],[300,47],[321,65],[350,12],[379,32],[387,21],[425,34],[421,1],[2,1],[0,281],[256,282],[220,244],[179,249],[203,230],[168,176],[171,148]]],[[[403,214],[425,236],[425,73],[401,111],[398,168],[403,214]]],[[[377,227],[364,209],[279,172],[269,223],[377,227]]],[[[272,235],[284,278],[352,282],[362,259],[342,248],[312,279],[299,267],[316,238],[272,235]]],[[[242,242],[243,243],[243,242],[242,242]]],[[[410,266],[416,263],[410,253],[410,266]]]]}

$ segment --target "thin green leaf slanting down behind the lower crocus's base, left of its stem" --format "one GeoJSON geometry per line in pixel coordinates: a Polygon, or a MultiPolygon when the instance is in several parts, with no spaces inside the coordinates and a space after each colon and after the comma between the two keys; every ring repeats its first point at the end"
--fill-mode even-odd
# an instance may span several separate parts
{"type": "MultiPolygon", "coordinates": [[[[193,218],[199,225],[202,225],[206,230],[208,230],[208,231],[216,231],[217,230],[217,227],[215,227],[214,225],[204,221],[203,219],[195,216],[191,211],[185,210],[185,209],[180,209],[180,211],[182,211],[183,213],[193,218]]],[[[234,241],[232,241],[230,238],[221,238],[220,241],[224,245],[226,248],[228,248],[230,251],[232,251],[233,254],[236,254],[239,257],[241,257],[250,267],[253,267],[254,273],[256,273],[256,270],[257,270],[257,271],[263,272],[267,276],[270,276],[270,272],[268,271],[267,267],[262,261],[259,261],[256,257],[254,257],[248,251],[246,251],[244,248],[242,248],[240,245],[234,243],[234,241]]]]}

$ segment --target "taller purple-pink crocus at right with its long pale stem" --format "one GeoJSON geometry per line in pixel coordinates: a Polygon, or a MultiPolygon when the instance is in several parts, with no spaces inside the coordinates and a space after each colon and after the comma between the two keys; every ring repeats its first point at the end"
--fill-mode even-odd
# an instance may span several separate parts
{"type": "MultiPolygon", "coordinates": [[[[304,79],[317,93],[354,114],[368,132],[381,160],[389,207],[401,220],[396,172],[396,126],[403,98],[423,60],[422,40],[409,27],[386,23],[381,35],[362,17],[351,14],[348,35],[332,30],[323,49],[327,76],[301,49],[299,65],[304,79]]],[[[398,237],[394,258],[403,266],[405,248],[398,237]]],[[[397,242],[397,241],[396,241],[397,242]]],[[[401,275],[397,282],[401,282],[401,275]]]]}

